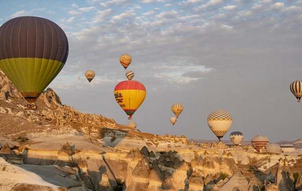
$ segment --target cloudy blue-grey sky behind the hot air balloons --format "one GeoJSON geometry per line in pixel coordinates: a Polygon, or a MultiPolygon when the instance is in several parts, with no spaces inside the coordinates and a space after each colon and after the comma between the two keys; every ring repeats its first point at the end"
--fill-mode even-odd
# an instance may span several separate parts
{"type": "Polygon", "coordinates": [[[82,113],[127,125],[114,87],[132,62],[146,98],[133,115],[141,132],[217,139],[207,125],[228,111],[230,133],[270,142],[302,138],[302,103],[289,85],[302,80],[302,1],[4,1],[0,25],[20,16],[49,19],[65,32],[67,61],[49,84],[82,113]],[[85,71],[96,73],[92,83],[85,71]],[[81,77],[78,80],[78,76],[81,77]],[[171,106],[184,107],[173,126],[171,106]]]}

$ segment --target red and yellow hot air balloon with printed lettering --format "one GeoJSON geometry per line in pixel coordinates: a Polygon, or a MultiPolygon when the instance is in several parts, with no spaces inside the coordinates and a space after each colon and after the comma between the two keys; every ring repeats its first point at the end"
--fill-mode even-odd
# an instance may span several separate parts
{"type": "Polygon", "coordinates": [[[142,83],[135,80],[119,82],[114,88],[114,97],[118,105],[129,115],[128,120],[143,103],[146,97],[146,89],[142,83]]]}

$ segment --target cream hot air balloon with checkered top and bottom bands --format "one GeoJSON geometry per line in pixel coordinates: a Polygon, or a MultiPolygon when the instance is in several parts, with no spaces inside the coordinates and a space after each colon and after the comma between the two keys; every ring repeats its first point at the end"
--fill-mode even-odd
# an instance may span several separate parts
{"type": "Polygon", "coordinates": [[[233,118],[229,112],[224,110],[215,110],[209,114],[207,123],[209,128],[219,139],[219,142],[221,142],[220,138],[222,138],[231,128],[233,118]]]}

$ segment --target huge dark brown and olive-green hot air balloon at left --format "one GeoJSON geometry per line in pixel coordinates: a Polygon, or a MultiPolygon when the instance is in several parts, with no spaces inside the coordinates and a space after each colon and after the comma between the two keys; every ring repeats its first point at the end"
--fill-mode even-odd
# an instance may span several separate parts
{"type": "Polygon", "coordinates": [[[0,68],[29,103],[58,75],[67,56],[67,37],[52,21],[17,17],[0,27],[0,68]]]}

